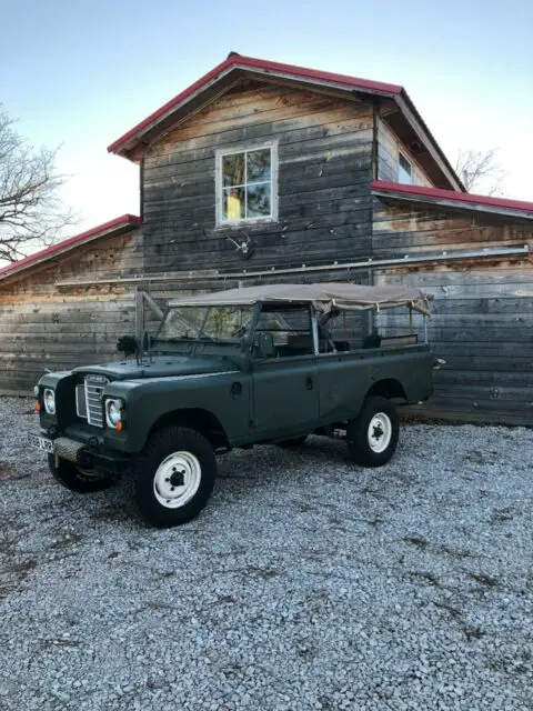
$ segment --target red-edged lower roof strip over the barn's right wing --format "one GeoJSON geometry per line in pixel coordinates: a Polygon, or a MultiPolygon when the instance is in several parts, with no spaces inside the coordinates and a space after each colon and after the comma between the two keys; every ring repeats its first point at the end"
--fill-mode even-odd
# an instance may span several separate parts
{"type": "Polygon", "coordinates": [[[390,197],[398,200],[465,208],[481,212],[493,212],[533,220],[533,202],[524,202],[522,200],[477,196],[470,192],[441,190],[440,188],[425,188],[423,186],[406,186],[384,180],[374,180],[372,183],[372,192],[375,196],[390,197]]]}

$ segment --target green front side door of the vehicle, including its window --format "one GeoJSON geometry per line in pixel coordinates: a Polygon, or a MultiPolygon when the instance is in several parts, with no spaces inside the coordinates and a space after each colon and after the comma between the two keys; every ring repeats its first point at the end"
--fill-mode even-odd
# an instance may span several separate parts
{"type": "Polygon", "coordinates": [[[310,304],[262,306],[252,350],[252,424],[265,439],[316,427],[319,388],[311,309],[310,304]],[[264,334],[273,340],[266,357],[259,348],[264,334]]]}

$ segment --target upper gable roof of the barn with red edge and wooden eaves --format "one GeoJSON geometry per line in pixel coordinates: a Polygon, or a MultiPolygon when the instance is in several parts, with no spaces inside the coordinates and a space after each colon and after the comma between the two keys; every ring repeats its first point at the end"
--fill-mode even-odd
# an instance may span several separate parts
{"type": "Polygon", "coordinates": [[[158,136],[203,108],[207,102],[220,96],[221,91],[244,76],[278,78],[308,87],[335,89],[351,94],[358,92],[392,100],[395,103],[395,111],[406,127],[413,142],[420,144],[422,152],[426,152],[438,166],[439,176],[434,182],[453,190],[464,190],[461,179],[403,87],[254,57],[243,57],[237,52],[232,52],[223,62],[217,64],[198,81],[113,141],[108,146],[108,151],[132,160],[135,149],[148,146],[158,136]]]}

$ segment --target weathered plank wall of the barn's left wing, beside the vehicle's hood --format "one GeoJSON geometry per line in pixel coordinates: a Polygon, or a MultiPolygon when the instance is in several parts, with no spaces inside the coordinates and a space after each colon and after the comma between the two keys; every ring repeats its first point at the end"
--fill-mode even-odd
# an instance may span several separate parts
{"type": "Polygon", "coordinates": [[[0,283],[0,393],[29,392],[44,369],[113,360],[134,333],[131,284],[58,287],[142,269],[139,230],[105,237],[0,283]]]}

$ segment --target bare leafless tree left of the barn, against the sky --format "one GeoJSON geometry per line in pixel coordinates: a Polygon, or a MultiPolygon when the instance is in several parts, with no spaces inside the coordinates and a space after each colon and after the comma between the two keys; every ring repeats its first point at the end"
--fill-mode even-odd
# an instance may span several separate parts
{"type": "Polygon", "coordinates": [[[74,221],[59,197],[58,149],[33,148],[13,124],[0,104],[0,260],[10,262],[50,244],[74,221]]]}

